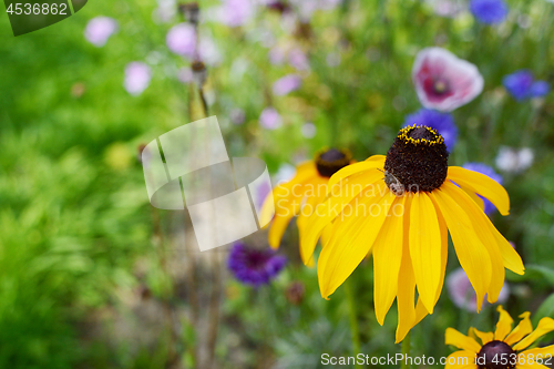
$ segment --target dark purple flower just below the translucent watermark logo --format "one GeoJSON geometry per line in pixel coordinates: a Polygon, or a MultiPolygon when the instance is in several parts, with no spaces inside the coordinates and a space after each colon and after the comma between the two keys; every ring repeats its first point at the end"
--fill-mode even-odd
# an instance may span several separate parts
{"type": "Polygon", "coordinates": [[[256,249],[238,242],[227,259],[227,267],[235,278],[245,285],[259,287],[268,284],[287,264],[285,256],[276,255],[270,248],[256,249]]]}

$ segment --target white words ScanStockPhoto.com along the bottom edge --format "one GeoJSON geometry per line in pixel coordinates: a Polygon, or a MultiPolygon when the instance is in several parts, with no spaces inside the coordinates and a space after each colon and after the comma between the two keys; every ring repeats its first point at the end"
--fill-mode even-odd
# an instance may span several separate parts
{"type": "Polygon", "coordinates": [[[440,357],[438,359],[431,356],[409,356],[404,353],[396,353],[387,356],[370,356],[358,353],[357,356],[331,356],[321,353],[321,365],[324,366],[347,366],[347,365],[366,365],[366,366],[400,366],[401,363],[410,366],[432,366],[432,365],[451,365],[451,366],[469,366],[470,359],[466,357],[440,357]]]}

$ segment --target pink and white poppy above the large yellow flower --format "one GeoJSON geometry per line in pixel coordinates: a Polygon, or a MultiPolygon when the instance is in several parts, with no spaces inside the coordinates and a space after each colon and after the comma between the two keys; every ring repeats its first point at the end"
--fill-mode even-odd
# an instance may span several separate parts
{"type": "Polygon", "coordinates": [[[475,99],[484,83],[475,65],[441,48],[427,48],[418,53],[412,80],[421,104],[443,112],[475,99]]]}

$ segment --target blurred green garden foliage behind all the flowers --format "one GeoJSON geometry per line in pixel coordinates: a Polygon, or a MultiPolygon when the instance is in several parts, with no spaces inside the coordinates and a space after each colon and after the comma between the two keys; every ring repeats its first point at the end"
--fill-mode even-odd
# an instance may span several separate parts
{"type": "MultiPolygon", "coordinates": [[[[217,4],[201,1],[201,12],[217,4]]],[[[485,86],[453,112],[459,141],[450,165],[494,166],[502,145],[534,151],[527,171],[504,175],[511,215],[492,218],[529,270],[523,278],[509,275],[506,308],[513,316],[540,307],[538,314],[553,314],[546,298],[554,291],[554,94],[517,103],[502,78],[525,68],[554,82],[554,4],[509,6],[507,20],[495,27],[468,12],[439,17],[414,0],[345,0],[302,24],[296,20],[294,31],[264,6],[243,27],[208,19],[199,32],[220,55],[207,66],[209,114],[219,119],[229,156],[263,157],[271,173],[326,145],[363,160],[384,154],[404,116],[420,109],[411,83],[418,51],[439,45],[471,61],[485,86]],[[273,95],[271,84],[296,71],[269,63],[264,32],[308,55],[298,91],[273,95]],[[275,131],[258,123],[269,104],[284,120],[275,131]],[[240,125],[229,121],[236,107],[245,113],[240,125]],[[307,122],[314,137],[302,135],[307,122]]],[[[191,121],[194,90],[177,79],[189,60],[165,43],[183,19],[177,12],[162,22],[153,16],[157,7],[154,0],[90,1],[75,16],[18,38],[0,17],[0,368],[203,367],[197,351],[205,327],[192,329],[192,287],[179,264],[189,256],[178,248],[183,219],[151,207],[136,158],[140,144],[191,121]],[[119,23],[102,48],[83,35],[96,16],[119,23]],[[152,68],[137,96],[123,88],[132,61],[152,68]]],[[[294,226],[281,252],[289,265],[269,286],[224,278],[213,368],[314,368],[321,352],[351,353],[343,288],[330,301],[320,297],[315,269],[299,262],[294,226]],[[298,304],[286,295],[295,280],[305,288],[298,304]]],[[[449,263],[449,270],[458,266],[455,258],[449,263]]],[[[361,349],[396,353],[396,314],[384,328],[377,324],[370,269],[371,263],[359,267],[351,285],[361,349]]],[[[212,286],[211,270],[208,263],[196,270],[201,298],[204,284],[212,286]]],[[[444,290],[435,312],[414,328],[413,352],[448,355],[447,327],[491,330],[495,318],[492,307],[480,315],[458,309],[444,290]]]]}

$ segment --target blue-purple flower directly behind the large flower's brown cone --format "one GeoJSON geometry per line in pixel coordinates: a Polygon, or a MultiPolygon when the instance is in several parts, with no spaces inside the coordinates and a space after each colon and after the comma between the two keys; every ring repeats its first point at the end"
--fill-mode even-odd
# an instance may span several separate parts
{"type": "Polygon", "coordinates": [[[458,127],[454,124],[454,117],[450,113],[441,113],[431,109],[420,109],[413,114],[406,117],[403,126],[409,125],[427,125],[428,127],[437,130],[444,139],[444,144],[449,152],[454,148],[455,140],[458,137],[458,127]]]}

